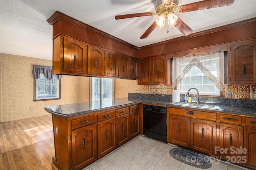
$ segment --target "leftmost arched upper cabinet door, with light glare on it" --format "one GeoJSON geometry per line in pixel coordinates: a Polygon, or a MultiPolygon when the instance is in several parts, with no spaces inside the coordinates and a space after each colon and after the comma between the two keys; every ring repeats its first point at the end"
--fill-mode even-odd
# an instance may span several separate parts
{"type": "Polygon", "coordinates": [[[85,74],[86,44],[67,37],[63,42],[63,72],[85,74]]]}

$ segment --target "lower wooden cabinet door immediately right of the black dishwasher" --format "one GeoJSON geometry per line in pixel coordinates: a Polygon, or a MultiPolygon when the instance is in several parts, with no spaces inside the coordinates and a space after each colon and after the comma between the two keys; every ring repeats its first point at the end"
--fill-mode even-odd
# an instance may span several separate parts
{"type": "Polygon", "coordinates": [[[167,119],[167,141],[189,148],[190,118],[168,114],[167,119]]]}

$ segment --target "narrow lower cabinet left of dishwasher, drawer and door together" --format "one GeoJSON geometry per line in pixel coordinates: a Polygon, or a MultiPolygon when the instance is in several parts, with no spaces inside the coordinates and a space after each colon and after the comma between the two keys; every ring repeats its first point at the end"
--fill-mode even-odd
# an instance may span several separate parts
{"type": "Polygon", "coordinates": [[[140,134],[140,111],[139,105],[130,106],[130,138],[134,138],[140,134]]]}

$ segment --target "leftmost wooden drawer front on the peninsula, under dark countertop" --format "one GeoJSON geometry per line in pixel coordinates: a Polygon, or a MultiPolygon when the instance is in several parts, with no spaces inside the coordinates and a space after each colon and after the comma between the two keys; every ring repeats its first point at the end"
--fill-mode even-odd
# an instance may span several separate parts
{"type": "Polygon", "coordinates": [[[84,127],[87,125],[92,125],[96,121],[97,121],[96,115],[84,117],[81,119],[76,119],[76,120],[71,121],[71,129],[73,130],[73,129],[84,127]]]}

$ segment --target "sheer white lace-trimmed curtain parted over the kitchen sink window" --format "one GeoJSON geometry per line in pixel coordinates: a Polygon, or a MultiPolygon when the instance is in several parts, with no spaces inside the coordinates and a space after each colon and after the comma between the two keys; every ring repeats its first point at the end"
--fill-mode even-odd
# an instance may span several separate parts
{"type": "Polygon", "coordinates": [[[174,57],[172,61],[173,89],[184,75],[196,65],[224,93],[224,51],[214,51],[184,57],[174,57]],[[182,67],[186,65],[186,67],[182,67]]]}

